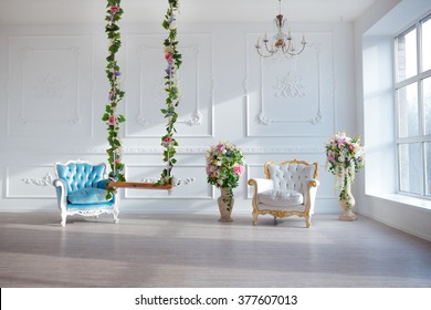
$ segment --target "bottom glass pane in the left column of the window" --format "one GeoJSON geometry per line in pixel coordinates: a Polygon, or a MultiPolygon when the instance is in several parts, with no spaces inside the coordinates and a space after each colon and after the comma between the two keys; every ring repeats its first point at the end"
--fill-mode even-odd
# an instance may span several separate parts
{"type": "Polygon", "coordinates": [[[400,190],[422,194],[421,190],[421,147],[419,143],[400,144],[400,190]]]}

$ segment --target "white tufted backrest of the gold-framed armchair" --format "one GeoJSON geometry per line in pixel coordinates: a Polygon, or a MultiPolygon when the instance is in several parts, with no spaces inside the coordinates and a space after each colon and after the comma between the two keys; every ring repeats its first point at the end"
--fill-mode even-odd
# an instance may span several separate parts
{"type": "Polygon", "coordinates": [[[266,178],[274,182],[274,189],[288,189],[303,193],[306,190],[306,180],[317,178],[317,163],[290,161],[275,164],[265,164],[266,178]]]}

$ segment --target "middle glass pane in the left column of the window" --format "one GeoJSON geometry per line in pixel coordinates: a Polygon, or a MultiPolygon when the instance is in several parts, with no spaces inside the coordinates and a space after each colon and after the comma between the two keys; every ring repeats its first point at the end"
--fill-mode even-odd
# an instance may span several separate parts
{"type": "Polygon", "coordinates": [[[418,83],[398,90],[399,136],[417,136],[419,134],[418,83]]]}

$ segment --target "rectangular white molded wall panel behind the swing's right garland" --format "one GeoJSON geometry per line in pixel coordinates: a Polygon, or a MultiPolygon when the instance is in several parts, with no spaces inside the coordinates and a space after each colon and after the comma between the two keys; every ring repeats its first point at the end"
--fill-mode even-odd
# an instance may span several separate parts
{"type": "MultiPolygon", "coordinates": [[[[165,101],[166,81],[162,76],[165,62],[149,61],[156,55],[161,59],[159,41],[162,39],[158,37],[143,34],[127,38],[129,45],[127,71],[134,81],[127,85],[127,110],[130,112],[135,110],[136,113],[133,115],[135,122],[126,124],[126,137],[159,137],[164,133],[165,120],[159,110],[165,101]],[[156,133],[158,128],[160,134],[156,133]]],[[[178,74],[182,96],[178,107],[180,114],[177,121],[177,125],[180,126],[178,137],[212,137],[214,122],[212,34],[188,33],[183,37],[187,39],[181,40],[180,50],[187,65],[182,66],[178,74]],[[211,122],[211,125],[207,126],[207,122],[211,122]]]]}

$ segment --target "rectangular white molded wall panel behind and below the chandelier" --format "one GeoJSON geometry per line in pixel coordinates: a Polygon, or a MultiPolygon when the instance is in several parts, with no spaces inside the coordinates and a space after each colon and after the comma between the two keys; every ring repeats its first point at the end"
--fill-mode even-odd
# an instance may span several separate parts
{"type": "MultiPolygon", "coordinates": [[[[248,43],[255,41],[254,34],[246,37],[248,43]]],[[[311,40],[314,41],[307,44],[305,53],[290,60],[271,61],[248,51],[243,80],[246,136],[317,137],[323,136],[328,125],[334,127],[332,33],[314,34],[311,40]],[[309,81],[313,83],[308,84],[309,81]],[[274,106],[277,106],[276,112],[274,106]]]]}

